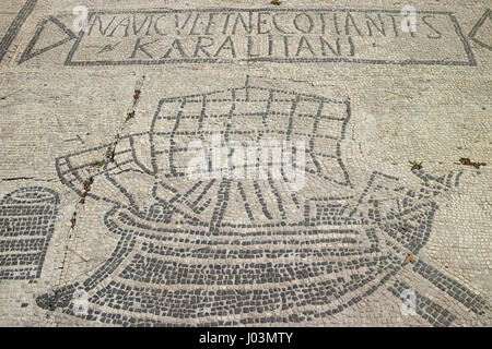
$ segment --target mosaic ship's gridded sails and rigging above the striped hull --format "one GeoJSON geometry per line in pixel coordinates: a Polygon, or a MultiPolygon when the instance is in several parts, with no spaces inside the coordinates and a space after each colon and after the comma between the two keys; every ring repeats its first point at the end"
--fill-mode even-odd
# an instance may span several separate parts
{"type": "Polygon", "coordinates": [[[91,195],[134,204],[136,189],[120,179],[137,170],[155,178],[161,209],[202,222],[274,224],[288,213],[302,220],[304,193],[351,186],[340,154],[349,118],[345,100],[247,85],[165,98],[148,133],[61,157],[57,167],[81,192],[85,170],[113,152],[93,174],[103,191],[91,195]]]}

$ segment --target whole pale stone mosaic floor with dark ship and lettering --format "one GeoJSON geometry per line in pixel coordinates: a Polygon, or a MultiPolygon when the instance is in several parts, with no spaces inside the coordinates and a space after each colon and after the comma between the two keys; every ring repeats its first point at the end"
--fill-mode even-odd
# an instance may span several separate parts
{"type": "Polygon", "coordinates": [[[490,326],[490,2],[412,4],[2,2],[0,325],[490,326]],[[304,188],[179,177],[212,131],[304,188]]]}

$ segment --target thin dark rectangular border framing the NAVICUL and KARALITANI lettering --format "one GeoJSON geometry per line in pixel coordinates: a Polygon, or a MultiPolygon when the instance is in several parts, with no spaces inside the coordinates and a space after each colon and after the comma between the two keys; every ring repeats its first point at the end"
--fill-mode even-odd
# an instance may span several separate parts
{"type": "MultiPolygon", "coordinates": [[[[173,10],[120,10],[120,11],[94,11],[91,12],[87,19],[87,23],[91,22],[94,15],[99,14],[136,14],[136,13],[185,13],[185,12],[365,12],[365,13],[400,13],[398,10],[378,10],[378,9],[234,9],[234,8],[219,8],[219,9],[173,9],[173,10]]],[[[438,60],[402,60],[402,61],[390,61],[390,60],[372,60],[372,59],[350,59],[350,58],[268,58],[268,57],[257,57],[257,58],[244,58],[244,59],[223,59],[223,58],[198,58],[198,59],[157,59],[157,60],[133,60],[133,61],[73,61],[73,56],[75,55],[79,45],[84,37],[85,33],[80,32],[79,37],[70,49],[69,55],[65,61],[65,65],[75,65],[75,67],[93,67],[93,65],[154,65],[154,64],[179,64],[179,63],[220,63],[220,64],[233,64],[237,62],[273,62],[273,63],[359,63],[359,64],[389,64],[389,65],[466,65],[476,67],[477,61],[473,57],[473,52],[470,47],[470,43],[461,31],[461,27],[455,16],[454,12],[450,11],[417,11],[419,14],[438,14],[447,15],[450,19],[455,27],[455,32],[458,38],[464,45],[465,52],[467,55],[467,61],[438,61],[438,60]]]]}

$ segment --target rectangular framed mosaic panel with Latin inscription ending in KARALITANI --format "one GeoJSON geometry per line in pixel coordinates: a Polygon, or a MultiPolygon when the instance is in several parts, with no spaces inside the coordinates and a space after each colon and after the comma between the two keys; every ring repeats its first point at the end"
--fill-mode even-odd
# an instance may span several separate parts
{"type": "Polygon", "coordinates": [[[184,10],[94,12],[69,65],[241,61],[475,65],[452,13],[419,12],[406,33],[399,11],[184,10]]]}

